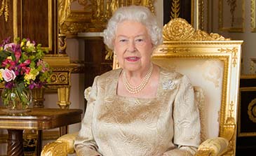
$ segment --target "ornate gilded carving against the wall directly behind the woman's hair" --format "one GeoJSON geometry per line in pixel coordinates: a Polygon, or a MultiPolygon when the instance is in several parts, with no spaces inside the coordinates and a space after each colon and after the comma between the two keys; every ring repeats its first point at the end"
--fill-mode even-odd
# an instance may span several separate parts
{"type": "Polygon", "coordinates": [[[59,0],[60,34],[76,35],[78,32],[102,31],[107,20],[121,6],[147,6],[154,13],[154,0],[59,0]],[[83,10],[72,10],[77,1],[83,10]]]}

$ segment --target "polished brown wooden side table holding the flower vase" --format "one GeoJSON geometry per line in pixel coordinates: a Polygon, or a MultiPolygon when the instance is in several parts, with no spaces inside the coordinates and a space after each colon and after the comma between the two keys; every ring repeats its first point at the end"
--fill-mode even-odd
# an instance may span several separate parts
{"type": "Polygon", "coordinates": [[[54,129],[81,122],[81,109],[31,108],[22,114],[8,114],[0,108],[0,129],[8,129],[8,156],[24,155],[22,133],[24,129],[39,130],[37,155],[41,153],[43,129],[54,129]]]}

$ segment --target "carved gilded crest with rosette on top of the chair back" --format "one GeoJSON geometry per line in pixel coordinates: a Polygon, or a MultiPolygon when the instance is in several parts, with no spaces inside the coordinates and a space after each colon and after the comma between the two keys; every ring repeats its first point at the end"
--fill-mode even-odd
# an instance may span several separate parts
{"type": "Polygon", "coordinates": [[[175,18],[163,27],[164,41],[224,41],[230,40],[220,34],[208,34],[206,31],[196,30],[186,20],[175,18]]]}

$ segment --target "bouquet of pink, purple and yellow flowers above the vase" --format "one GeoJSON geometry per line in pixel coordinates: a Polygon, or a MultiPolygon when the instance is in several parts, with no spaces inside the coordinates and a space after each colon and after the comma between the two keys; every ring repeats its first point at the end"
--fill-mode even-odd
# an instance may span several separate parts
{"type": "Polygon", "coordinates": [[[40,88],[50,83],[51,70],[42,59],[47,50],[28,38],[21,41],[16,38],[13,43],[10,39],[6,38],[0,45],[0,83],[4,83],[7,90],[15,89],[23,101],[23,90],[40,88]]]}

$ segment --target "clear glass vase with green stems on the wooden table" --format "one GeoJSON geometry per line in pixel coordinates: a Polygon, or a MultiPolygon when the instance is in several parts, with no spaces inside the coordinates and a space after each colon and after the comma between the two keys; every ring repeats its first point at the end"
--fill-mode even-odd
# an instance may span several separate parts
{"type": "Polygon", "coordinates": [[[18,90],[4,88],[1,93],[1,100],[9,113],[23,113],[29,111],[29,104],[32,103],[32,92],[29,88],[18,90]]]}

